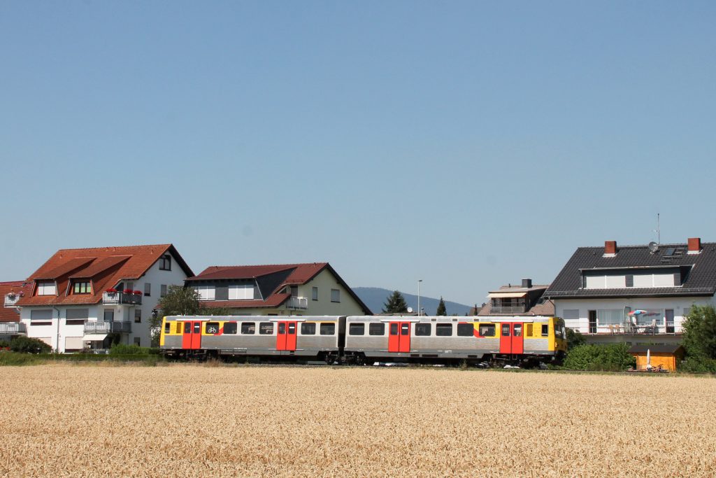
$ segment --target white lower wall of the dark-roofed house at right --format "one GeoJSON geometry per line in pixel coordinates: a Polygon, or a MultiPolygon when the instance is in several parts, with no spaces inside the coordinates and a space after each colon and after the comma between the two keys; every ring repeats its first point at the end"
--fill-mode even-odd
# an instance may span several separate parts
{"type": "MultiPolygon", "coordinates": [[[[674,310],[674,332],[682,332],[684,310],[688,311],[693,305],[716,305],[713,297],[664,297],[664,298],[620,298],[620,299],[554,299],[555,315],[563,317],[564,325],[579,330],[581,333],[589,333],[589,310],[624,310],[630,307],[631,310],[644,309],[673,309],[674,310]],[[565,310],[579,310],[579,319],[572,320],[565,317],[565,310]]],[[[662,325],[664,324],[662,318],[662,325]]],[[[599,328],[597,333],[609,333],[606,328],[599,328]]]]}

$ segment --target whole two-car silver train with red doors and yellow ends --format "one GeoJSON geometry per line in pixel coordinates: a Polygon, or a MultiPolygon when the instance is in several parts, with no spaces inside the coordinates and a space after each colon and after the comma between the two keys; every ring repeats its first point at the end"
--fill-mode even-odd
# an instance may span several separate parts
{"type": "Polygon", "coordinates": [[[566,330],[542,316],[168,316],[160,349],[169,358],[558,362],[566,330]]]}

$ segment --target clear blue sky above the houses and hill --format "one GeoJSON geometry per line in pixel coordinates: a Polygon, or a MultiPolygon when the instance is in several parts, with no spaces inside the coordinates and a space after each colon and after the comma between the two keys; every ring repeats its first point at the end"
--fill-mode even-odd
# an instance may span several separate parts
{"type": "MultiPolygon", "coordinates": [[[[481,303],[716,242],[716,2],[1,1],[0,280],[172,242],[481,303]]],[[[448,311],[449,312],[449,311],[448,311]]]]}

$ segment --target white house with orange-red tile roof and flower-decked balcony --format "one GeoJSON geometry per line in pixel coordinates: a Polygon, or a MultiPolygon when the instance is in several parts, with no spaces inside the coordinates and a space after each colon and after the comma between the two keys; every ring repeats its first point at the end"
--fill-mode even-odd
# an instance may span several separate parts
{"type": "Polygon", "coordinates": [[[20,321],[60,353],[150,345],[149,319],[170,285],[193,272],[172,244],[61,249],[28,279],[20,321]]]}

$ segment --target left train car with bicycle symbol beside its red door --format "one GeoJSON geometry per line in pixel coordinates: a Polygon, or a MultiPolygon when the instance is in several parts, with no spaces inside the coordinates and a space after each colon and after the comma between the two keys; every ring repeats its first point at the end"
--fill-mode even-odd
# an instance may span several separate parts
{"type": "Polygon", "coordinates": [[[159,339],[168,357],[303,357],[332,363],[339,357],[345,317],[184,316],[164,317],[159,339]]]}

